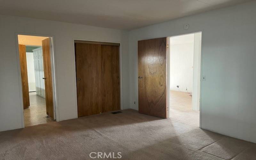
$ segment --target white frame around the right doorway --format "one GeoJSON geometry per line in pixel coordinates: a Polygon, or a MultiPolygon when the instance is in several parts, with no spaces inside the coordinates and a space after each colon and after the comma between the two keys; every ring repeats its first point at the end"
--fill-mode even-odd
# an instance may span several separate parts
{"type": "MultiPolygon", "coordinates": [[[[199,33],[201,32],[201,38],[202,38],[202,41],[201,41],[201,64],[200,64],[200,85],[198,87],[199,88],[199,91],[200,91],[200,97],[199,97],[199,128],[202,128],[202,77],[203,77],[203,31],[197,31],[197,32],[191,32],[191,33],[186,33],[186,34],[180,34],[180,35],[174,35],[174,36],[167,36],[167,44],[168,44],[168,47],[167,47],[167,68],[166,68],[166,71],[167,71],[167,78],[166,78],[166,81],[167,81],[167,117],[168,118],[171,118],[171,109],[170,109],[170,79],[171,79],[171,75],[170,75],[170,38],[171,37],[176,37],[176,36],[184,36],[184,35],[190,35],[190,34],[195,34],[195,33],[199,33]]],[[[194,58],[193,58],[194,60],[194,58]]],[[[193,72],[193,80],[194,80],[194,72],[193,72]]],[[[194,85],[194,84],[193,84],[194,85]]],[[[194,86],[193,86],[194,87],[194,86]]]]}

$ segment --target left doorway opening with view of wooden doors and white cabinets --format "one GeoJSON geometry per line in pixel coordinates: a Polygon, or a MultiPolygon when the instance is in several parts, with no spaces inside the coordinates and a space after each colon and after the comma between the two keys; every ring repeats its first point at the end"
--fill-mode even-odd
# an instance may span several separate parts
{"type": "Polygon", "coordinates": [[[18,34],[24,126],[55,121],[52,37],[18,34]]]}

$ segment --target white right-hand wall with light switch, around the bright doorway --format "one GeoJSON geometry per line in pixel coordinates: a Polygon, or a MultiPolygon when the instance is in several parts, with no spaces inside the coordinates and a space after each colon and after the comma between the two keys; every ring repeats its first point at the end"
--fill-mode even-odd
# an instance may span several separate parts
{"type": "Polygon", "coordinates": [[[138,109],[137,41],[203,31],[202,128],[256,142],[255,8],[254,1],[130,31],[130,107],[138,109]]]}

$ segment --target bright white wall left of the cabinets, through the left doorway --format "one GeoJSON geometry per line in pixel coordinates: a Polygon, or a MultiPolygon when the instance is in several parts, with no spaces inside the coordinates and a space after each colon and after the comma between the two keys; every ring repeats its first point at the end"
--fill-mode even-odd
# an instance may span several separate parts
{"type": "Polygon", "coordinates": [[[28,70],[28,91],[36,91],[36,78],[34,68],[33,52],[26,52],[27,70],[28,70]]]}

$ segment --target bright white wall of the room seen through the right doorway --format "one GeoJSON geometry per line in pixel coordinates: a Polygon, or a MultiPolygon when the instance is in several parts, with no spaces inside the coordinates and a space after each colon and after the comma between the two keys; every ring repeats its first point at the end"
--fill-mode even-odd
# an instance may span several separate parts
{"type": "Polygon", "coordinates": [[[192,92],[193,90],[194,37],[194,34],[189,34],[170,38],[170,89],[172,91],[192,92]]]}

